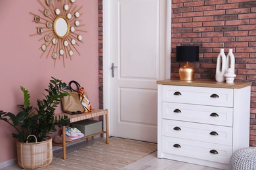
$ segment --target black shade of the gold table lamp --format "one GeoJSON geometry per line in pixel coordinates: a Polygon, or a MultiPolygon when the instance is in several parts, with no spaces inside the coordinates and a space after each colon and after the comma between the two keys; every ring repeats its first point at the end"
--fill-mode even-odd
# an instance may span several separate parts
{"type": "Polygon", "coordinates": [[[176,61],[199,61],[199,46],[177,46],[176,61]]]}

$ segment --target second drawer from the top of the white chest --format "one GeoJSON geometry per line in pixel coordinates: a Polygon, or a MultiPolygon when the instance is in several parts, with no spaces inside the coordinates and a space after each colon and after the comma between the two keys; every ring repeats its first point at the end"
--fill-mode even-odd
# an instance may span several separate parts
{"type": "Polygon", "coordinates": [[[233,109],[230,107],[210,107],[163,102],[162,117],[171,120],[232,127],[233,109]]]}

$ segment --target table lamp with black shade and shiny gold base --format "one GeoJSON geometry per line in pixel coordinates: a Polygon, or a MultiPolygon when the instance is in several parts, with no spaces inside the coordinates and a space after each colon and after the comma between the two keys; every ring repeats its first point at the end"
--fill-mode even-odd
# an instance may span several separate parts
{"type": "Polygon", "coordinates": [[[192,81],[195,69],[188,61],[199,61],[199,46],[177,46],[176,61],[185,61],[186,64],[179,69],[180,80],[192,81]]]}

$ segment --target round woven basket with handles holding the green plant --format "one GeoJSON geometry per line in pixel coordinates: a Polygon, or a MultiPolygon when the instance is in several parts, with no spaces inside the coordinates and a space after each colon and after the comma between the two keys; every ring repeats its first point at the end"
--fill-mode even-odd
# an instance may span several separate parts
{"type": "MultiPolygon", "coordinates": [[[[34,135],[29,135],[35,137],[34,135]]],[[[24,169],[37,169],[46,167],[53,160],[53,146],[51,137],[47,137],[46,141],[37,143],[35,137],[35,143],[16,142],[17,144],[17,157],[18,165],[24,169]]]]}

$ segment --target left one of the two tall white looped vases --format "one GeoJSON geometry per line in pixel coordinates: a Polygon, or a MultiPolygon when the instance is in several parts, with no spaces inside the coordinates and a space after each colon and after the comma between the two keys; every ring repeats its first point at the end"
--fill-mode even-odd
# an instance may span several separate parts
{"type": "Polygon", "coordinates": [[[221,52],[217,58],[217,66],[216,66],[216,75],[215,79],[217,82],[224,82],[224,74],[226,73],[226,55],[224,54],[224,49],[221,48],[221,52]]]}

